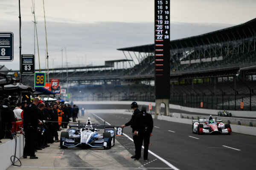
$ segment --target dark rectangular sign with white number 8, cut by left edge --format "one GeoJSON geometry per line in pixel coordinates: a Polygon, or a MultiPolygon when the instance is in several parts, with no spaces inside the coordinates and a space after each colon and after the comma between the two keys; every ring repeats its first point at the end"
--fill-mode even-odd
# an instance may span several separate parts
{"type": "Polygon", "coordinates": [[[13,60],[13,33],[0,32],[0,61],[13,60]]]}

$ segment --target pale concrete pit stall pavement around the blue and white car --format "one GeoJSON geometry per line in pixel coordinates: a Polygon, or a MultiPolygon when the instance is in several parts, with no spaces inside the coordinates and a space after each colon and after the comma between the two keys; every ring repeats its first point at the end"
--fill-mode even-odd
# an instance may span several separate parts
{"type": "MultiPolygon", "coordinates": [[[[94,117],[88,113],[79,117],[81,122],[86,122],[91,117],[91,122],[96,122],[94,117]]],[[[102,121],[100,121],[102,123],[102,121]]],[[[66,131],[64,129],[63,131],[66,131]]],[[[58,132],[60,137],[60,131],[58,132]]],[[[21,167],[10,166],[8,170],[56,170],[56,169],[90,169],[90,170],[133,170],[142,167],[142,162],[131,159],[131,154],[116,140],[111,149],[68,147],[61,149],[59,142],[50,144],[43,150],[36,152],[38,159],[20,158],[21,167]]],[[[16,159],[17,160],[17,159],[16,159]]],[[[16,161],[15,164],[19,164],[16,161]]]]}

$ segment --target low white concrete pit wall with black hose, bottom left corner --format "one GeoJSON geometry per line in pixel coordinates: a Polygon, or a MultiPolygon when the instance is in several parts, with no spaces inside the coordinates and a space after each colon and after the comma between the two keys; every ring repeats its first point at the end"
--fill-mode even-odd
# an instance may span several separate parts
{"type": "MultiPolygon", "coordinates": [[[[15,139],[1,139],[0,143],[0,170],[6,170],[9,166],[12,165],[11,156],[15,155],[15,139]]],[[[20,158],[23,156],[24,149],[24,136],[17,135],[17,148],[16,148],[16,157],[20,158]]],[[[12,160],[14,158],[12,157],[12,160]]],[[[15,164],[20,165],[20,162],[15,159],[15,164]]]]}

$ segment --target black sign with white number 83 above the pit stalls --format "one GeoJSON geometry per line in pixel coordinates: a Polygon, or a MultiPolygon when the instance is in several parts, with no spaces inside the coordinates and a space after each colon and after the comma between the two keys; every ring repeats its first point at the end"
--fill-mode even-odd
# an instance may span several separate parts
{"type": "Polygon", "coordinates": [[[21,54],[21,74],[35,74],[35,55],[21,54]]]}

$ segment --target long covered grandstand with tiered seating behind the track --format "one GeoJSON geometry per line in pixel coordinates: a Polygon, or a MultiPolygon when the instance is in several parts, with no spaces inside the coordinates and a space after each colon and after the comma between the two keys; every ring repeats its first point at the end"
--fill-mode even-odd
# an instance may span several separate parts
{"type": "MultiPolygon", "coordinates": [[[[256,111],[255,41],[256,19],[170,41],[170,103],[200,108],[203,102],[203,108],[242,110],[244,102],[244,111],[256,111]]],[[[49,78],[65,79],[61,86],[69,87],[73,101],[154,102],[154,44],[117,50],[125,59],[50,69],[49,78]]],[[[26,76],[23,81],[32,79],[26,76]]]]}

